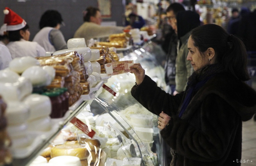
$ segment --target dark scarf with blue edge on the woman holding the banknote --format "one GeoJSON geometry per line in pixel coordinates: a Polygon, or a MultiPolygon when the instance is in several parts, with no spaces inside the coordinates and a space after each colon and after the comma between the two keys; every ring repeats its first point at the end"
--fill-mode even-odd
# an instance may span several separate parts
{"type": "Polygon", "coordinates": [[[219,64],[206,65],[202,69],[193,72],[188,78],[188,83],[185,91],[185,99],[182,102],[179,117],[182,116],[187,106],[189,105],[192,97],[196,92],[213,76],[217,73],[223,72],[224,69],[219,64]]]}

